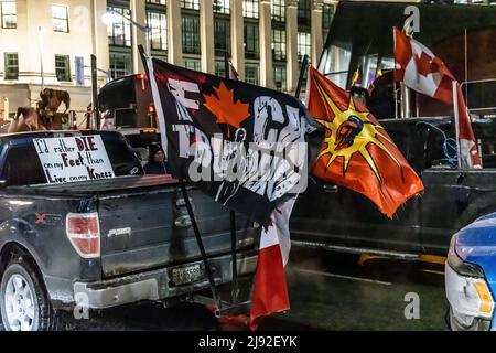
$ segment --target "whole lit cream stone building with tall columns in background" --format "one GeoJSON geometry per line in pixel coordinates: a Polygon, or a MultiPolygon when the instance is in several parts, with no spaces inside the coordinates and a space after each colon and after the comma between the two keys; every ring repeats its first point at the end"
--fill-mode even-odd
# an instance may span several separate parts
{"type": "Polygon", "coordinates": [[[138,44],[187,68],[294,92],[301,60],[319,60],[331,0],[0,0],[0,97],[10,114],[42,87],[65,89],[72,109],[90,103],[90,55],[100,84],[142,73],[138,44]],[[111,14],[105,21],[105,14],[111,14]],[[148,31],[131,21],[148,26],[148,31]],[[147,38],[148,36],[148,38],[147,38]]]}

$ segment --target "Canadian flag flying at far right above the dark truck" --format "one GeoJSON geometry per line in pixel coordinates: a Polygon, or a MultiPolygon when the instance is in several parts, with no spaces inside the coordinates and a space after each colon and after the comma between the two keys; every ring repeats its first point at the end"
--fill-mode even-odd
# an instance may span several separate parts
{"type": "Polygon", "coordinates": [[[395,29],[395,79],[408,87],[454,106],[462,168],[482,168],[472,121],[456,78],[422,43],[395,29]]]}

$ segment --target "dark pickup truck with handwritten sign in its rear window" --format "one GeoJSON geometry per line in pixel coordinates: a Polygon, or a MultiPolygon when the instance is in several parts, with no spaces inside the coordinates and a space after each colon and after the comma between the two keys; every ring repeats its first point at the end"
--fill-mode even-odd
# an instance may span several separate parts
{"type": "MultiPolygon", "coordinates": [[[[76,160],[73,160],[77,163],[76,160]]],[[[71,163],[73,163],[71,162],[71,163]]],[[[144,175],[111,131],[0,136],[0,309],[7,330],[51,329],[56,310],[177,300],[208,288],[177,181],[144,175]],[[48,183],[33,139],[100,136],[112,178],[48,183]]],[[[217,285],[231,280],[229,213],[188,190],[217,285]]],[[[255,232],[237,220],[237,268],[255,271],[255,232]]]]}

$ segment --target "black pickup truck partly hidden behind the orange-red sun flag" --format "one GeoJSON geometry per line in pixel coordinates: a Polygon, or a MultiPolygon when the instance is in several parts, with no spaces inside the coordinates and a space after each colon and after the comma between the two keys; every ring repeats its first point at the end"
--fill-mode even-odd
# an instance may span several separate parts
{"type": "Polygon", "coordinates": [[[311,178],[291,215],[295,246],[412,259],[445,256],[457,229],[496,211],[495,119],[473,124],[482,141],[484,169],[478,170],[459,169],[445,158],[443,133],[454,137],[453,118],[387,119],[381,125],[421,175],[423,194],[389,220],[362,194],[311,178]]]}

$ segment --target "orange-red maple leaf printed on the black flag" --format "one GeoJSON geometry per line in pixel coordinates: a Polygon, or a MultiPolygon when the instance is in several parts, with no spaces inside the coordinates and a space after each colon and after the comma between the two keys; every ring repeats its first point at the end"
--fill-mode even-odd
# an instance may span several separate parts
{"type": "Polygon", "coordinates": [[[239,125],[250,116],[250,105],[240,100],[235,101],[234,89],[227,89],[224,82],[220,82],[218,88],[214,87],[214,90],[215,94],[212,96],[203,95],[205,98],[203,105],[215,115],[217,124],[239,128],[239,125]]]}

